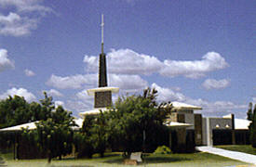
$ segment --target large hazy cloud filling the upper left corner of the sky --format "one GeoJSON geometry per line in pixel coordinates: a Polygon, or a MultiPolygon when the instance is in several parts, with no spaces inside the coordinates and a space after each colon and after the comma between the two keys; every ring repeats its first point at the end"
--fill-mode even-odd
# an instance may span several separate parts
{"type": "Polygon", "coordinates": [[[52,11],[39,0],[1,0],[0,6],[13,8],[7,15],[0,13],[0,34],[11,36],[31,33],[42,16],[52,11]]]}

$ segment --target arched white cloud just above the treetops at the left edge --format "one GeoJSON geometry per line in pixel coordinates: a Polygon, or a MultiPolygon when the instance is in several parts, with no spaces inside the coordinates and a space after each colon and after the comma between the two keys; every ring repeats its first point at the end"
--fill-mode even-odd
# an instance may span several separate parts
{"type": "Polygon", "coordinates": [[[7,96],[23,96],[28,102],[32,102],[36,99],[33,93],[29,92],[27,89],[13,87],[8,89],[6,93],[0,95],[0,99],[5,99],[7,96]]]}

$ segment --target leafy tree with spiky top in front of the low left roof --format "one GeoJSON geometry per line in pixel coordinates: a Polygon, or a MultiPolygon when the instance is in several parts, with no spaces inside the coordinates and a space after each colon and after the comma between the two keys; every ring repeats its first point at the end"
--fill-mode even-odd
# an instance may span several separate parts
{"type": "Polygon", "coordinates": [[[34,140],[43,152],[47,152],[48,162],[52,158],[64,156],[72,152],[73,127],[75,126],[72,113],[59,106],[54,107],[51,96],[44,93],[45,99],[40,100],[40,105],[33,103],[31,109],[35,109],[34,118],[41,118],[36,122],[34,131],[23,131],[23,135],[34,140]],[[44,115],[42,115],[44,113],[44,115]]]}

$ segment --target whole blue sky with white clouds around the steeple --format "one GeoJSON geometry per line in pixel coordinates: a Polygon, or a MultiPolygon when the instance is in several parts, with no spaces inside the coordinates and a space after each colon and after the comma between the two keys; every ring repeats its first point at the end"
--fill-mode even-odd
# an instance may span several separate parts
{"type": "MultiPolygon", "coordinates": [[[[158,90],[159,101],[245,118],[256,102],[256,2],[1,0],[0,98],[53,96],[74,115],[93,108],[101,14],[109,85],[119,95],[158,90]]],[[[114,96],[114,100],[118,95],[114,96]]]]}

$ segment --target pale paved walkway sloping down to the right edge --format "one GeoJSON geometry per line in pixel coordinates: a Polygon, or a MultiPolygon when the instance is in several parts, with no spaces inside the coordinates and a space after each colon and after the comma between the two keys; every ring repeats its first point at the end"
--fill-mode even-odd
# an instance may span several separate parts
{"type": "Polygon", "coordinates": [[[237,161],[244,161],[247,163],[256,164],[256,155],[212,147],[196,147],[196,149],[202,152],[220,155],[222,157],[227,157],[237,161]]]}

